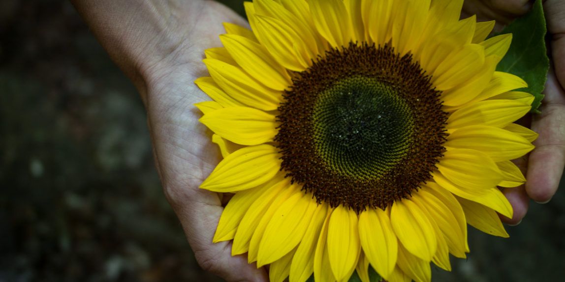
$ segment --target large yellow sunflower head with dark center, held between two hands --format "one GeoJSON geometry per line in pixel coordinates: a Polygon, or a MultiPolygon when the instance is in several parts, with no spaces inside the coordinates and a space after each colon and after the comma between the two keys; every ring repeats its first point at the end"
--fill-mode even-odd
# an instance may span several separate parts
{"type": "Polygon", "coordinates": [[[429,281],[466,257],[467,223],[508,236],[533,96],[496,71],[511,35],[462,2],[246,2],[251,30],[224,24],[195,81],[223,156],[201,188],[235,194],[214,241],[273,281],[429,281]]]}

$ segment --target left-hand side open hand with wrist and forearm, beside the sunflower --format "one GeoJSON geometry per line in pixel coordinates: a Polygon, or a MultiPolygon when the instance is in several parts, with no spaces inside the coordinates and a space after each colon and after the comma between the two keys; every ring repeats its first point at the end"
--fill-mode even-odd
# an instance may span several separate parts
{"type": "Polygon", "coordinates": [[[203,50],[219,47],[223,22],[246,25],[214,1],[73,0],[103,47],[132,79],[147,109],[155,162],[168,201],[178,215],[199,265],[228,281],[266,281],[231,243],[212,243],[223,211],[222,195],[199,189],[219,162],[194,103],[210,100],[194,85],[207,76],[203,50]]]}

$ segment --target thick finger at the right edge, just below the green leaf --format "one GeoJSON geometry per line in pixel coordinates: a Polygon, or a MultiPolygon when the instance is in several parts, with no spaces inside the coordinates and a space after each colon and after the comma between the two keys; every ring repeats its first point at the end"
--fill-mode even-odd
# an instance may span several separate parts
{"type": "Polygon", "coordinates": [[[565,166],[565,92],[551,72],[545,94],[541,114],[532,121],[532,130],[540,136],[529,156],[526,183],[526,192],[536,202],[553,197],[565,166]]]}

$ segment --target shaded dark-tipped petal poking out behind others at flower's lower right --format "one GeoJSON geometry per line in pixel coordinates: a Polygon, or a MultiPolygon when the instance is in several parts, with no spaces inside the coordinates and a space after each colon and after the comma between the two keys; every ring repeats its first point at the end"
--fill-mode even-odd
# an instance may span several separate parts
{"type": "Polygon", "coordinates": [[[467,222],[471,224],[472,227],[477,228],[480,231],[489,233],[490,235],[499,237],[509,237],[502,222],[498,217],[498,214],[493,209],[487,208],[484,205],[477,204],[476,202],[469,201],[458,197],[463,210],[465,211],[465,217],[467,222]]]}

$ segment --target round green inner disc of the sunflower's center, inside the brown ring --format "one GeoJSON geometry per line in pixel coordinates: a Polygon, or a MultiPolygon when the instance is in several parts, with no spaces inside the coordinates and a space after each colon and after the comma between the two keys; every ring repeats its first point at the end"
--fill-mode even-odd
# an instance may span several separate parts
{"type": "Polygon", "coordinates": [[[410,107],[375,78],[347,77],[318,96],[312,115],[318,155],[337,173],[382,177],[408,151],[410,107]]]}

